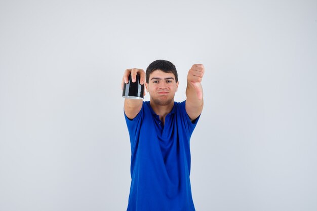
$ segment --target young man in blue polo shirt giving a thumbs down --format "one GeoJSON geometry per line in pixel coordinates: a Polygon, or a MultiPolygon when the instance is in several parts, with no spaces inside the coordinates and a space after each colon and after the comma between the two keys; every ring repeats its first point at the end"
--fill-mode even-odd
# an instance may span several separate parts
{"type": "MultiPolygon", "coordinates": [[[[175,66],[156,60],[146,69],[127,69],[150,95],[150,101],[125,99],[124,114],[131,142],[131,187],[127,211],[194,211],[190,187],[190,136],[203,110],[201,81],[205,68],[188,71],[186,100],[174,102],[175,66]],[[146,81],[145,81],[146,79],[146,81]]],[[[145,95],[145,93],[144,93],[145,95]]]]}

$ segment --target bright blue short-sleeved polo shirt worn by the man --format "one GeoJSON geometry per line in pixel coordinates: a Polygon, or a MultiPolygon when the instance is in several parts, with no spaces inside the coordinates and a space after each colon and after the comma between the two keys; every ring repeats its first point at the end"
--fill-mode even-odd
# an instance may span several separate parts
{"type": "Polygon", "coordinates": [[[190,187],[191,122],[185,102],[174,102],[161,122],[143,101],[134,119],[126,115],[131,142],[131,187],[127,211],[194,211],[190,187]]]}

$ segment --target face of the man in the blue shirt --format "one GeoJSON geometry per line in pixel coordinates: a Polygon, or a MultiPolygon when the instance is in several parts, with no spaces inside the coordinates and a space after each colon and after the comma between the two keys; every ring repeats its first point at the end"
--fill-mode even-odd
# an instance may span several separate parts
{"type": "Polygon", "coordinates": [[[155,104],[169,105],[174,102],[178,81],[176,82],[173,73],[155,70],[150,74],[148,83],[145,83],[145,88],[150,94],[150,100],[155,104]]]}

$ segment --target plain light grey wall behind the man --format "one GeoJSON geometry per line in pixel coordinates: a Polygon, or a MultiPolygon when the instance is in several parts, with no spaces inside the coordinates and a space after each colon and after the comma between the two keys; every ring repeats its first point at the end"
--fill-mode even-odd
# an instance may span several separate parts
{"type": "Polygon", "coordinates": [[[156,59],[176,101],[205,65],[197,211],[317,210],[316,1],[0,1],[0,30],[0,210],[126,210],[120,84],[156,59]]]}

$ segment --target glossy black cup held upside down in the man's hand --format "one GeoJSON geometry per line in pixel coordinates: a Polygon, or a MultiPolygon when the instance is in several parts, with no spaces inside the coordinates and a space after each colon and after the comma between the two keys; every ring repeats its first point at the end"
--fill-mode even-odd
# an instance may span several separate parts
{"type": "Polygon", "coordinates": [[[132,82],[131,74],[129,82],[124,83],[122,97],[140,100],[143,99],[144,85],[140,85],[140,75],[136,75],[136,81],[132,82]]]}

